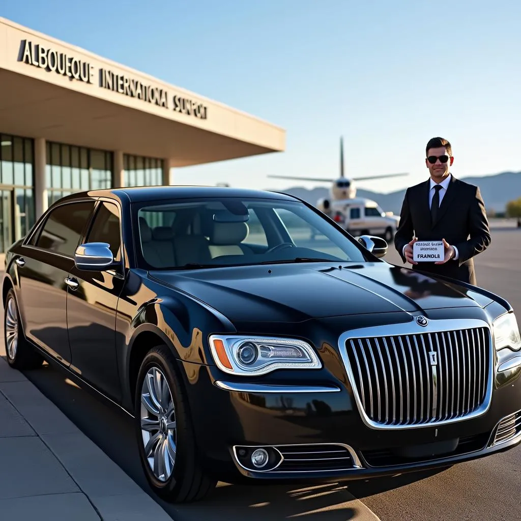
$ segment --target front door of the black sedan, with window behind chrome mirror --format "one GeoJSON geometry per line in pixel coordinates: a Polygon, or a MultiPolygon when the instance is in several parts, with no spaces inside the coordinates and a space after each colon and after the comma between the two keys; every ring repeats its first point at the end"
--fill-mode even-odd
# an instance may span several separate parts
{"type": "Polygon", "coordinates": [[[83,243],[106,242],[119,268],[84,271],[73,266],[67,299],[71,369],[111,399],[120,400],[116,358],[116,310],[125,283],[120,208],[100,201],[83,243]]]}

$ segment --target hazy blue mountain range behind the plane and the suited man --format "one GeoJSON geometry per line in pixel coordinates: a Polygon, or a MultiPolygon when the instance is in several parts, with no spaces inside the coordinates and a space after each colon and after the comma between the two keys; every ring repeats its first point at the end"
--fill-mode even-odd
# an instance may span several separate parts
{"type": "MultiPolygon", "coordinates": [[[[521,172],[501,172],[483,177],[462,177],[461,180],[479,187],[488,213],[502,213],[505,211],[508,201],[521,197],[521,172]]],[[[329,187],[327,185],[311,190],[303,187],[291,187],[286,190],[276,191],[295,195],[313,205],[316,204],[320,197],[329,197],[329,187]]],[[[395,215],[400,215],[404,194],[405,190],[387,194],[361,188],[356,190],[357,197],[372,199],[380,205],[384,212],[393,212],[395,215]]]]}

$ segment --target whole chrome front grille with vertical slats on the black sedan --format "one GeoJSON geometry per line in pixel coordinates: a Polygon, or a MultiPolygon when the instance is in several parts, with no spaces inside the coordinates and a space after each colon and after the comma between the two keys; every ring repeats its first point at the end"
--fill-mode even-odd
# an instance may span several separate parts
{"type": "MultiPolygon", "coordinates": [[[[403,428],[475,416],[490,399],[491,337],[482,327],[394,324],[346,336],[344,363],[366,423],[403,428]],[[405,327],[404,327],[405,326],[405,327]],[[410,332],[410,329],[423,330],[410,332]],[[388,333],[388,334],[385,334],[388,333]]],[[[446,321],[460,324],[461,320],[446,321]]],[[[451,324],[455,325],[455,324],[451,324]]]]}

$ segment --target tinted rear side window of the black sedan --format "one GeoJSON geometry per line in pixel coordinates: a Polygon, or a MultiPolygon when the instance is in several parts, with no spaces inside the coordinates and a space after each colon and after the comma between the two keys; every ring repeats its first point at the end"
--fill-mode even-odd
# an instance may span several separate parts
{"type": "Polygon", "coordinates": [[[35,246],[73,257],[93,209],[94,201],[84,201],[51,210],[35,246]]]}

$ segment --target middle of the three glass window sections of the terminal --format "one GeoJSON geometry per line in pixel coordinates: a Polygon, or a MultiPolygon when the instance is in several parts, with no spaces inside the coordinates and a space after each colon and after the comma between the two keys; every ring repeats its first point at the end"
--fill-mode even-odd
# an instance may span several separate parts
{"type": "Polygon", "coordinates": [[[113,187],[111,152],[47,141],[46,188],[49,206],[73,192],[113,187]]]}

